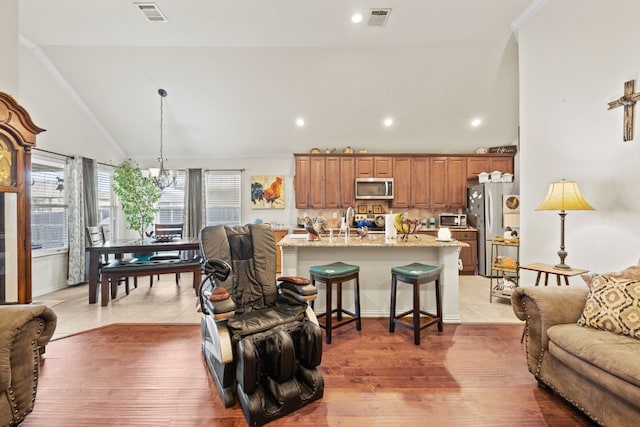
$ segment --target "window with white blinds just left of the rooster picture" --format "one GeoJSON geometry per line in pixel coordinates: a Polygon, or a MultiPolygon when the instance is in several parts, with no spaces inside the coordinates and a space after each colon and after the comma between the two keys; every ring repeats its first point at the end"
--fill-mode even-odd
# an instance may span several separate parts
{"type": "Polygon", "coordinates": [[[240,173],[205,173],[206,225],[240,225],[240,173]]]}

